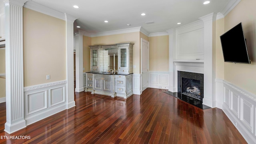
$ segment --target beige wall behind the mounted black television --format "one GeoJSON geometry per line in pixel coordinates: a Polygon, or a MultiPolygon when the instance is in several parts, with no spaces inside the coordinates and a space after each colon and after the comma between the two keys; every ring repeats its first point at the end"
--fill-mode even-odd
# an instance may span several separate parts
{"type": "Polygon", "coordinates": [[[224,80],[256,94],[256,0],[241,0],[225,16],[225,32],[242,22],[252,64],[224,63],[224,80]]]}

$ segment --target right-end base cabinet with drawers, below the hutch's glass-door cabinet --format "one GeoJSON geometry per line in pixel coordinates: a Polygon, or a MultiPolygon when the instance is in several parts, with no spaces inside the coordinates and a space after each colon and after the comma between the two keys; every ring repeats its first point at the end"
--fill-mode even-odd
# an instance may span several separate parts
{"type": "Polygon", "coordinates": [[[116,96],[128,98],[132,95],[132,74],[116,75],[116,96]]]}

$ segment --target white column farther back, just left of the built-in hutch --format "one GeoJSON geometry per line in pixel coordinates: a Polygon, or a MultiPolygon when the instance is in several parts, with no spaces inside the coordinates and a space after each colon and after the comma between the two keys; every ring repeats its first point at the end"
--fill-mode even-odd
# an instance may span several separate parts
{"type": "Polygon", "coordinates": [[[83,83],[83,32],[76,34],[76,92],[84,91],[83,83]]]}

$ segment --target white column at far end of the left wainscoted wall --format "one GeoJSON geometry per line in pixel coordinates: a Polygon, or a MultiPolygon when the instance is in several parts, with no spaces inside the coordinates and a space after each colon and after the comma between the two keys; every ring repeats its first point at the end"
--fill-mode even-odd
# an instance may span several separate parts
{"type": "Polygon", "coordinates": [[[74,16],[65,13],[66,19],[66,100],[67,109],[76,106],[74,100],[74,16]]]}

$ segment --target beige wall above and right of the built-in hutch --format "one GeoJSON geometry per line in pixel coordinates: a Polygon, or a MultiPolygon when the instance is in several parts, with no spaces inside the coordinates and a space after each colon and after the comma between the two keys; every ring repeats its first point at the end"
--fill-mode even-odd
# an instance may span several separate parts
{"type": "Polygon", "coordinates": [[[132,42],[133,45],[133,73],[140,73],[140,32],[131,32],[126,34],[114,34],[110,36],[92,37],[93,45],[118,44],[124,42],[132,42]]]}

